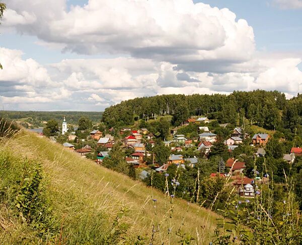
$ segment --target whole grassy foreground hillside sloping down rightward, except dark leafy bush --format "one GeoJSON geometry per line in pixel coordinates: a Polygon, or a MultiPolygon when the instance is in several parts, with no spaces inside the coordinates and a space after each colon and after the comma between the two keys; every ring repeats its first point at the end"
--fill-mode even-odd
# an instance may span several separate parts
{"type": "MultiPolygon", "coordinates": [[[[20,179],[20,172],[36,176],[32,173],[38,167],[28,169],[40,164],[44,188],[38,191],[39,200],[48,207],[43,215],[51,218],[44,218],[47,228],[42,227],[42,231],[31,228],[24,218],[11,213],[9,201],[2,202],[1,244],[44,244],[45,240],[56,244],[176,244],[183,234],[193,237],[193,244],[208,244],[211,240],[219,216],[208,210],[169,199],[34,133],[21,132],[5,142],[0,150],[0,172],[5,172],[0,175],[0,191],[9,186],[5,181],[20,179]],[[179,228],[180,236],[176,235],[179,228]]],[[[28,174],[24,176],[21,183],[29,179],[28,174]]],[[[10,200],[12,196],[7,195],[10,200]]],[[[18,202],[12,202],[12,210],[18,202]]]]}

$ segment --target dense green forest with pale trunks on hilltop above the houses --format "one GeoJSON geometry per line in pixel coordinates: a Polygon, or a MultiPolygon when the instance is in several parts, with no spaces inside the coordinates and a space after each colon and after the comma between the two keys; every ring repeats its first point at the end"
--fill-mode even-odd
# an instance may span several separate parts
{"type": "Polygon", "coordinates": [[[219,123],[242,125],[247,118],[251,125],[268,130],[280,128],[302,132],[302,95],[289,100],[278,91],[234,91],[230,95],[192,94],[158,95],[122,101],[105,109],[103,121],[109,127],[133,125],[135,120],[156,119],[172,115],[179,126],[192,115],[206,115],[219,123]]]}

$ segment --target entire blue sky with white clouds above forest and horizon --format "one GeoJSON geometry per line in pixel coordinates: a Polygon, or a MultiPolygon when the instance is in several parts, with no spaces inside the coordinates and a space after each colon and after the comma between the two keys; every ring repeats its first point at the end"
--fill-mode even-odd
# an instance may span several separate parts
{"type": "MultiPolygon", "coordinates": [[[[2,0],[0,106],[302,92],[302,0],[2,0]]],[[[0,1],[1,2],[1,1],[0,1]]]]}

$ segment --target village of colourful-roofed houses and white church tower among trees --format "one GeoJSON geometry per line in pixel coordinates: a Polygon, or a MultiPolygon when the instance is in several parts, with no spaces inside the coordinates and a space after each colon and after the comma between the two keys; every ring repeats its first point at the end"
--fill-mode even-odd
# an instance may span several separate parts
{"type": "MultiPolygon", "coordinates": [[[[253,149],[253,154],[245,156],[251,159],[265,157],[266,145],[270,141],[272,135],[267,133],[256,133],[250,135],[246,133],[243,128],[235,127],[230,131],[229,137],[221,139],[209,130],[210,120],[207,117],[191,117],[188,118],[183,124],[176,128],[170,128],[171,140],[164,140],[163,144],[170,149],[170,156],[167,162],[160,164],[153,153],[152,149],[156,145],[157,137],[149,132],[146,128],[134,128],[125,127],[120,130],[110,128],[106,134],[100,130],[90,131],[89,136],[86,139],[82,139],[82,148],[75,149],[74,132],[68,132],[67,122],[64,118],[62,123],[62,135],[67,135],[67,142],[63,143],[63,146],[71,151],[78,153],[81,157],[86,157],[89,154],[95,152],[95,159],[92,159],[97,164],[102,164],[104,159],[110,158],[110,151],[114,145],[118,142],[123,151],[127,151],[127,155],[124,160],[127,164],[133,166],[136,171],[139,171],[139,178],[145,178],[150,171],[156,171],[164,174],[170,165],[176,165],[180,168],[185,166],[195,167],[200,159],[207,160],[211,155],[213,147],[220,142],[225,146],[225,149],[230,153],[230,157],[223,162],[224,166],[219,167],[216,172],[209,174],[210,178],[220,177],[228,179],[230,185],[236,187],[239,196],[244,198],[254,198],[255,195],[260,194],[259,185],[267,184],[270,181],[268,173],[260,175],[258,170],[253,169],[253,176],[251,173],[246,174],[246,162],[231,157],[233,151],[236,148],[249,144],[253,149]],[[186,138],[184,134],[178,134],[180,128],[194,125],[197,128],[198,137],[186,138]],[[94,141],[97,147],[93,147],[89,144],[84,145],[87,140],[94,141]],[[73,143],[73,144],[72,144],[73,143]],[[193,155],[186,156],[183,152],[190,150],[193,155]]],[[[220,128],[225,128],[227,124],[219,125],[220,128]]],[[[55,137],[50,137],[50,140],[56,142],[55,137]]],[[[284,138],[280,138],[279,141],[284,141],[284,138]]],[[[79,141],[79,140],[78,140],[79,141]]],[[[88,141],[89,142],[89,141],[88,141]]],[[[246,155],[245,153],[241,155],[246,155]]],[[[241,156],[240,155],[240,156],[241,156]]],[[[284,162],[292,164],[295,157],[302,155],[302,148],[292,147],[290,152],[283,155],[284,162]]],[[[222,158],[221,158],[222,159],[222,158]]],[[[241,158],[243,159],[243,158],[241,158]]]]}

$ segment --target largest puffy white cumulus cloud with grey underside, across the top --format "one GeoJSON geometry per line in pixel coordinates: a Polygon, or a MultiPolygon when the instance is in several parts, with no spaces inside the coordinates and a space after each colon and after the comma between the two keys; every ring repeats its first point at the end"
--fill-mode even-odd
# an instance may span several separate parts
{"type": "Polygon", "coordinates": [[[10,0],[9,8],[33,17],[22,26],[17,21],[18,31],[36,35],[43,45],[63,45],[64,52],[125,53],[202,69],[207,60],[216,68],[243,62],[255,49],[245,20],[192,0],[89,0],[70,10],[63,0],[10,0]]]}

